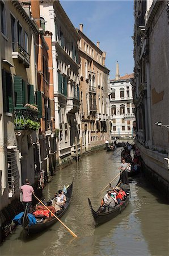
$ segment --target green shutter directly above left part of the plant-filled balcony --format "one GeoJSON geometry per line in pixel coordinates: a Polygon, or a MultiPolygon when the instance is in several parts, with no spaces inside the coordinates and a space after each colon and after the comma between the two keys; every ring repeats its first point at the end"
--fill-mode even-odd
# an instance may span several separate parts
{"type": "Polygon", "coordinates": [[[21,76],[14,76],[15,106],[22,107],[24,104],[23,80],[21,76]]]}

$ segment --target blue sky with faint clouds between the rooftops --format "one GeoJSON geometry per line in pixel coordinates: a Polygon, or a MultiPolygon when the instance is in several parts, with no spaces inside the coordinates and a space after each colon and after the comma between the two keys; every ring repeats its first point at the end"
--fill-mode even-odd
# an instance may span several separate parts
{"type": "Polygon", "coordinates": [[[107,52],[106,67],[115,78],[116,61],[120,76],[133,73],[133,1],[60,1],[75,28],[83,24],[83,33],[107,52]]]}

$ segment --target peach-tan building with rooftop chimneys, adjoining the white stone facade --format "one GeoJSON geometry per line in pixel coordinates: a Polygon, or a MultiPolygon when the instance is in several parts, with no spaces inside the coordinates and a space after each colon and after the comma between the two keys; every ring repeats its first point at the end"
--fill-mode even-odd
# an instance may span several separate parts
{"type": "Polygon", "coordinates": [[[83,34],[83,24],[77,29],[81,69],[81,150],[102,145],[109,138],[109,70],[105,67],[105,52],[83,34]]]}

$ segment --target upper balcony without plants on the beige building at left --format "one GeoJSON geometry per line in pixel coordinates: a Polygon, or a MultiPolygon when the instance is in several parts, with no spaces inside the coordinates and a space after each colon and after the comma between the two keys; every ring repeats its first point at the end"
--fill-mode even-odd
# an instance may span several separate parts
{"type": "Polygon", "coordinates": [[[12,43],[12,58],[19,59],[26,68],[30,65],[29,53],[19,43],[12,43]]]}

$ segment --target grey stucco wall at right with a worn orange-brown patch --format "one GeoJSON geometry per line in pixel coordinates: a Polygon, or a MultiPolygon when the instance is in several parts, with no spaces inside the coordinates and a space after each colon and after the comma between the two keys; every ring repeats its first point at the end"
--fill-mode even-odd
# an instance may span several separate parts
{"type": "Polygon", "coordinates": [[[155,122],[169,125],[169,26],[166,1],[162,2],[150,34],[151,123],[153,144],[167,150],[168,130],[155,125],[155,122]]]}

